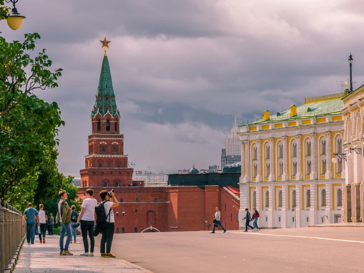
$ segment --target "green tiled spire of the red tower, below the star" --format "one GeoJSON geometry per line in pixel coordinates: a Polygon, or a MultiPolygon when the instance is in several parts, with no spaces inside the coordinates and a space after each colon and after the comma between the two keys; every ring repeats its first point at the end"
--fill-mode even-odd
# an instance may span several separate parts
{"type": "Polygon", "coordinates": [[[110,112],[111,116],[118,114],[120,117],[116,106],[114,89],[112,88],[109,61],[107,56],[104,56],[101,66],[98,93],[96,94],[95,108],[94,111],[92,111],[92,115],[95,117],[97,112],[99,112],[101,116],[104,116],[107,111],[110,112]]]}

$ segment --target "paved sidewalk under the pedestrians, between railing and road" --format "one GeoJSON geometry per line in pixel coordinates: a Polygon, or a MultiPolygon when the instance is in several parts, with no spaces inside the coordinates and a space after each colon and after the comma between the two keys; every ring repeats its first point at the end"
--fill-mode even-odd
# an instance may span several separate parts
{"type": "Polygon", "coordinates": [[[95,247],[95,256],[80,256],[84,252],[81,236],[77,236],[76,243],[69,244],[73,256],[60,255],[59,236],[45,239],[45,244],[39,240],[34,244],[25,241],[14,273],[152,273],[120,258],[101,258],[99,247],[95,247]]]}

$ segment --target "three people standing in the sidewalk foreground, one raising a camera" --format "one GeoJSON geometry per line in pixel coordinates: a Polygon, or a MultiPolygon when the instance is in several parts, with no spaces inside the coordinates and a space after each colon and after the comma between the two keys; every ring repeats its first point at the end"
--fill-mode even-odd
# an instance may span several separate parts
{"type": "MultiPolygon", "coordinates": [[[[103,190],[100,191],[100,198],[102,200],[102,205],[104,207],[105,213],[108,217],[106,217],[106,221],[101,224],[101,245],[100,245],[100,253],[101,257],[116,257],[111,254],[111,244],[114,236],[115,230],[115,219],[114,212],[112,210],[113,207],[119,205],[119,202],[116,200],[114,193],[110,192],[110,196],[108,192],[103,190]],[[107,213],[108,212],[108,213],[107,213]]],[[[72,241],[72,229],[73,229],[73,241],[76,242],[76,229],[78,226],[81,226],[81,234],[83,239],[83,245],[85,252],[81,253],[81,256],[94,256],[94,248],[95,248],[95,239],[94,228],[95,228],[95,207],[98,205],[96,199],[93,198],[94,191],[92,189],[87,189],[85,191],[84,200],[82,202],[82,209],[78,214],[75,211],[75,207],[69,207],[67,200],[66,191],[60,191],[59,196],[60,200],[58,202],[58,212],[56,216],[56,223],[60,223],[61,225],[61,237],[60,237],[60,255],[73,255],[69,250],[69,244],[72,241]],[[72,225],[71,225],[72,223],[72,225]],[[67,233],[66,243],[64,241],[67,233]],[[90,247],[87,238],[87,234],[90,239],[90,247]]]]}

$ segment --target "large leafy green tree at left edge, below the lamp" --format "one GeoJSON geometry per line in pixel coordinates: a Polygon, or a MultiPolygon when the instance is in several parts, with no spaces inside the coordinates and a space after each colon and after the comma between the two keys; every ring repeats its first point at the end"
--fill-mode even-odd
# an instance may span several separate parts
{"type": "Polygon", "coordinates": [[[19,197],[8,195],[10,190],[23,193],[24,202],[33,194],[40,164],[58,144],[58,128],[65,125],[56,102],[44,102],[33,94],[36,89],[57,87],[62,71],[48,69],[52,61],[45,49],[30,57],[28,52],[39,38],[36,33],[25,34],[24,42],[8,43],[0,36],[0,200],[13,199],[12,204],[19,197]]]}

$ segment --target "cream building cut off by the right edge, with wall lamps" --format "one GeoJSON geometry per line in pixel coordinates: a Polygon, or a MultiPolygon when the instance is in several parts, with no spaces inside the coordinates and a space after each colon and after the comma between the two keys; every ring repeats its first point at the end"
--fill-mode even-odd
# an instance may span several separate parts
{"type": "Polygon", "coordinates": [[[364,85],[343,99],[344,153],[346,172],[344,186],[344,221],[364,222],[363,118],[364,85]]]}

